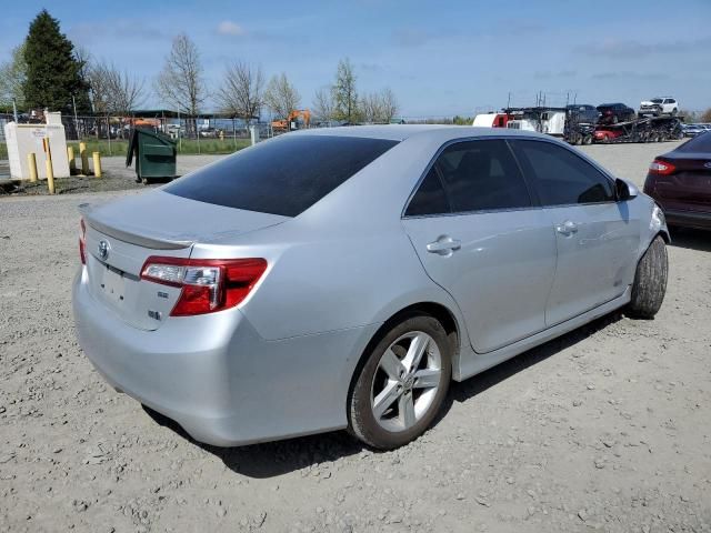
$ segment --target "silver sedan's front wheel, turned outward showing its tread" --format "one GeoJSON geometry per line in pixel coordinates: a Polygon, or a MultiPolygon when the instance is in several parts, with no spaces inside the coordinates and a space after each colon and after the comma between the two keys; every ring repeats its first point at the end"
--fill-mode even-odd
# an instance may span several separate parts
{"type": "Polygon", "coordinates": [[[667,243],[657,235],[637,264],[627,314],[634,319],[653,319],[664,301],[668,275],[667,243]]]}

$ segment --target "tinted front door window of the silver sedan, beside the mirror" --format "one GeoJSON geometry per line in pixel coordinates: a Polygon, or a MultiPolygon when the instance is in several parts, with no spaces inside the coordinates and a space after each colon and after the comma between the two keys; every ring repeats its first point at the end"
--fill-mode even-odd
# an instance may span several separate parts
{"type": "Polygon", "coordinates": [[[614,201],[612,182],[570,150],[550,142],[513,142],[543,205],[614,201]]]}

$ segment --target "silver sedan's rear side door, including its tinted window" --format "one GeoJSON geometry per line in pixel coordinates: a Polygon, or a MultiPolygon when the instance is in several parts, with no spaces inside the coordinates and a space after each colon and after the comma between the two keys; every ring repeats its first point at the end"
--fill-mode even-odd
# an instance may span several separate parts
{"type": "Polygon", "coordinates": [[[505,141],[444,148],[403,224],[429,276],[459,304],[477,352],[545,328],[555,237],[505,141]]]}

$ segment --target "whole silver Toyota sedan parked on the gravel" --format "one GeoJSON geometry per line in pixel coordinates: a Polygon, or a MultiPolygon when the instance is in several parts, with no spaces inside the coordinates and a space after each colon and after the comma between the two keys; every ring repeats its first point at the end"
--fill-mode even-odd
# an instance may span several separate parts
{"type": "Polygon", "coordinates": [[[663,214],[513,130],[306,130],[82,208],[87,356],[198,441],[391,449],[461,381],[667,285],[663,214]]]}

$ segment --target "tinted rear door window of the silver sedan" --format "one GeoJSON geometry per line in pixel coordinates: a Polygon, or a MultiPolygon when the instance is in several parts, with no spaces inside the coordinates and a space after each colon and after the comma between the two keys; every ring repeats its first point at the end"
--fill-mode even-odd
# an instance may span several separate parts
{"type": "Polygon", "coordinates": [[[437,161],[453,212],[517,209],[531,198],[505,141],[465,141],[437,161]]]}

